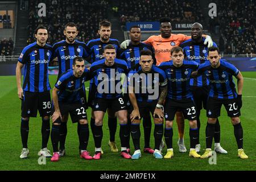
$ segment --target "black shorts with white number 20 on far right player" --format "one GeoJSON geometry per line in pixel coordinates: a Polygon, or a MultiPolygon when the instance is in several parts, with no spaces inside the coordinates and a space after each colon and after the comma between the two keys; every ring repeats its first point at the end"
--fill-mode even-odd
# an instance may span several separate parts
{"type": "Polygon", "coordinates": [[[209,97],[209,100],[207,101],[207,117],[219,117],[222,104],[225,106],[225,109],[230,118],[239,117],[241,115],[240,110],[237,108],[236,99],[217,100],[209,97]]]}

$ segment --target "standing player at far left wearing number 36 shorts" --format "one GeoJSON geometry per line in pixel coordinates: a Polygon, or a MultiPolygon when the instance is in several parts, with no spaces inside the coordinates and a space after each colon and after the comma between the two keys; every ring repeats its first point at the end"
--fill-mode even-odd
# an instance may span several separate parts
{"type": "Polygon", "coordinates": [[[27,147],[28,121],[30,117],[36,117],[38,110],[42,117],[42,149],[38,155],[51,157],[47,150],[50,134],[49,115],[51,112],[51,96],[49,90],[48,65],[52,60],[52,47],[46,44],[48,30],[39,26],[35,31],[36,42],[28,45],[19,56],[16,65],[16,84],[18,97],[22,100],[22,114],[20,134],[23,149],[20,158],[27,158],[29,150],[27,147]],[[21,86],[21,70],[24,68],[23,86],[21,86]]]}

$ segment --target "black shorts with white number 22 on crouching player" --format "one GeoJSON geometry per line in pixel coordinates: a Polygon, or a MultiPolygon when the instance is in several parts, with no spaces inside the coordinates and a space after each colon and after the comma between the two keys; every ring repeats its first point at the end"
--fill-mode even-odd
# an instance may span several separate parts
{"type": "MultiPolygon", "coordinates": [[[[61,116],[69,113],[72,123],[76,123],[82,119],[87,119],[86,108],[80,102],[73,104],[59,102],[59,107],[61,116]]],[[[54,113],[54,111],[54,105],[52,105],[51,115],[54,113]]],[[[59,118],[55,122],[60,123],[61,119],[59,118]]]]}

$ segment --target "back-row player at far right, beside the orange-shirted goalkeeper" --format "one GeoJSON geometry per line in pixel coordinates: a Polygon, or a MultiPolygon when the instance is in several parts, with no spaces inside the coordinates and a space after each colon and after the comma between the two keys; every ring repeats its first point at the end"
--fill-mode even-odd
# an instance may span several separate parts
{"type": "MultiPolygon", "coordinates": [[[[191,39],[188,39],[181,43],[180,47],[183,48],[185,59],[196,61],[199,64],[205,63],[207,60],[207,45],[204,45],[204,40],[202,36],[203,26],[200,23],[194,23],[191,27],[191,39]]],[[[213,46],[217,47],[217,44],[213,42],[213,46]]],[[[195,100],[197,108],[197,127],[200,131],[200,110],[207,109],[207,100],[209,94],[209,80],[207,76],[201,75],[196,78],[191,78],[190,80],[191,90],[193,93],[193,98],[195,100]]],[[[200,142],[196,144],[196,152],[200,152],[200,142]]],[[[220,123],[215,124],[214,130],[214,150],[221,154],[227,154],[228,152],[220,145],[220,123]]]]}

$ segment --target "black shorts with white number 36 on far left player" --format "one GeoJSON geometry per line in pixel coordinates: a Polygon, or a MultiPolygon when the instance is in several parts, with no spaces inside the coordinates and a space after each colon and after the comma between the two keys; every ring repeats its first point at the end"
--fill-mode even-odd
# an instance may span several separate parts
{"type": "Polygon", "coordinates": [[[41,117],[49,116],[51,113],[51,95],[49,90],[46,92],[27,92],[24,91],[22,100],[21,116],[36,117],[39,114],[41,117]]]}

